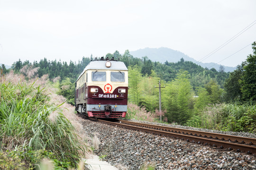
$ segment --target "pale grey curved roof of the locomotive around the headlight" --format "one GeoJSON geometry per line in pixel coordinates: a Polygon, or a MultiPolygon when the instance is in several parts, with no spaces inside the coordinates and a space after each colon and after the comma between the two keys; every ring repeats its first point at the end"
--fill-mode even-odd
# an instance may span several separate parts
{"type": "MultiPolygon", "coordinates": [[[[77,80],[83,75],[86,70],[120,70],[120,71],[128,71],[128,68],[122,61],[113,61],[113,60],[95,60],[91,61],[82,71],[77,80]],[[111,62],[111,66],[109,68],[106,67],[105,63],[107,61],[111,62]]],[[[76,81],[77,81],[76,80],[76,81]]]]}

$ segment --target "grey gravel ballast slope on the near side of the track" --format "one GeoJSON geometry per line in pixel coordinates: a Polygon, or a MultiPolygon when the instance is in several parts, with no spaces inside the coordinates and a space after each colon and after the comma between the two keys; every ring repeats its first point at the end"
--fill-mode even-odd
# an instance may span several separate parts
{"type": "Polygon", "coordinates": [[[154,165],[155,170],[256,169],[256,158],[246,153],[218,151],[204,145],[86,119],[83,128],[88,135],[97,134],[100,139],[99,149],[94,151],[96,154],[127,170],[140,170],[147,164],[154,165]]]}

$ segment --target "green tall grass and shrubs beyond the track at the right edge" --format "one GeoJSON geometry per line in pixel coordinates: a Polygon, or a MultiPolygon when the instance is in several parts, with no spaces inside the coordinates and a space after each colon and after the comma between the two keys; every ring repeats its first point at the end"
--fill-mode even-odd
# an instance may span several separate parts
{"type": "Polygon", "coordinates": [[[222,131],[256,133],[256,105],[254,103],[222,103],[210,105],[199,116],[188,120],[187,126],[222,131]]]}

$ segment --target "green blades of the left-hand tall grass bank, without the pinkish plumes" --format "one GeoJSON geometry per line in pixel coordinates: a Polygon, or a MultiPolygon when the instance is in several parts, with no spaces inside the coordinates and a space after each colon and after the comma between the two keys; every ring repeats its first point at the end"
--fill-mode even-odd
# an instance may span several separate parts
{"type": "Polygon", "coordinates": [[[0,151],[46,150],[52,159],[74,167],[85,155],[74,131],[59,106],[50,104],[44,88],[0,82],[0,151]]]}

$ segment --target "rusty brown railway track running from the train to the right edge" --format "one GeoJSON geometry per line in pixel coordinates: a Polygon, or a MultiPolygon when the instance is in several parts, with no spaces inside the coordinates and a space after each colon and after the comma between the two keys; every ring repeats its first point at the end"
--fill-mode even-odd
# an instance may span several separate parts
{"type": "Polygon", "coordinates": [[[256,156],[256,138],[232,136],[175,127],[157,126],[145,123],[131,122],[127,120],[111,122],[99,119],[98,121],[108,125],[140,130],[156,135],[171,136],[177,139],[186,140],[187,142],[215,147],[219,150],[233,150],[237,152],[242,151],[248,154],[254,154],[254,156],[256,156]]]}

